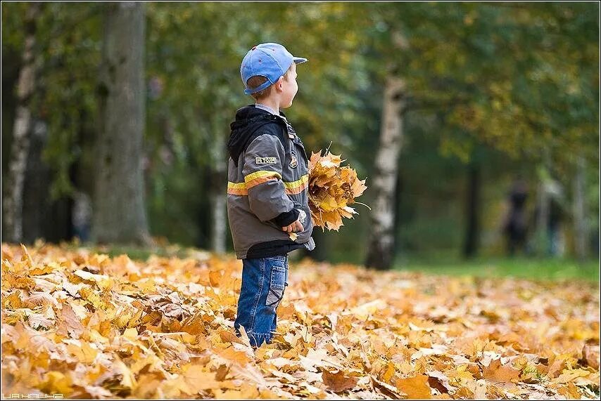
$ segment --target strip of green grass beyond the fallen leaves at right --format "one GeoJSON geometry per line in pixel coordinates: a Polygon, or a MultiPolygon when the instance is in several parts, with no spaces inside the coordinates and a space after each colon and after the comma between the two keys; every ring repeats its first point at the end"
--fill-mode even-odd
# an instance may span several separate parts
{"type": "Polygon", "coordinates": [[[400,258],[396,270],[419,271],[436,275],[477,277],[517,277],[530,280],[584,280],[599,282],[599,261],[584,262],[567,258],[400,258]]]}

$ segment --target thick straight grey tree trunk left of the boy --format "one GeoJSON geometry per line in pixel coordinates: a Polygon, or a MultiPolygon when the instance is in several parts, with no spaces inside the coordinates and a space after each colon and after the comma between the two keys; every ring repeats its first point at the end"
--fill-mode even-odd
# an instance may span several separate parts
{"type": "Polygon", "coordinates": [[[144,3],[106,6],[92,206],[94,242],[153,244],[142,171],[145,22],[144,3]]]}

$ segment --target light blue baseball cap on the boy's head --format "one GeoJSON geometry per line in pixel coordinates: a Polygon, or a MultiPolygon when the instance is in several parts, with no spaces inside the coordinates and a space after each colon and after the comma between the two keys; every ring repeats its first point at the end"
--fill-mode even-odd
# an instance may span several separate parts
{"type": "Polygon", "coordinates": [[[305,61],[307,61],[306,58],[291,55],[281,44],[262,43],[253,46],[242,59],[240,66],[240,75],[246,87],[244,93],[250,95],[262,91],[267,86],[275,84],[279,77],[286,74],[292,63],[300,64],[305,63],[305,61]],[[265,77],[267,81],[254,89],[248,88],[246,81],[255,75],[265,77]]]}

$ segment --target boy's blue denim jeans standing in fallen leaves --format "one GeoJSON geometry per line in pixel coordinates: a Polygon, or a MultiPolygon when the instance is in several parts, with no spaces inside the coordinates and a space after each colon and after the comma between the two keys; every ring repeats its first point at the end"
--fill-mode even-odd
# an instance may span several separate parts
{"type": "Polygon", "coordinates": [[[242,287],[234,328],[244,327],[253,348],[271,343],[276,331],[276,308],[288,285],[288,256],[242,260],[242,287]]]}

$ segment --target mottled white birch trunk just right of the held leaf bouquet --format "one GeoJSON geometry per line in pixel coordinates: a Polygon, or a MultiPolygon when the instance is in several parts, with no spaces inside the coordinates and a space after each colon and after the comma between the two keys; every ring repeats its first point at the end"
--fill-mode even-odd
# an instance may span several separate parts
{"type": "Polygon", "coordinates": [[[375,193],[372,208],[372,232],[365,265],[386,270],[394,256],[395,214],[394,195],[398,176],[398,155],[403,139],[403,79],[389,75],[384,88],[384,104],[380,126],[380,143],[372,188],[375,193]]]}

